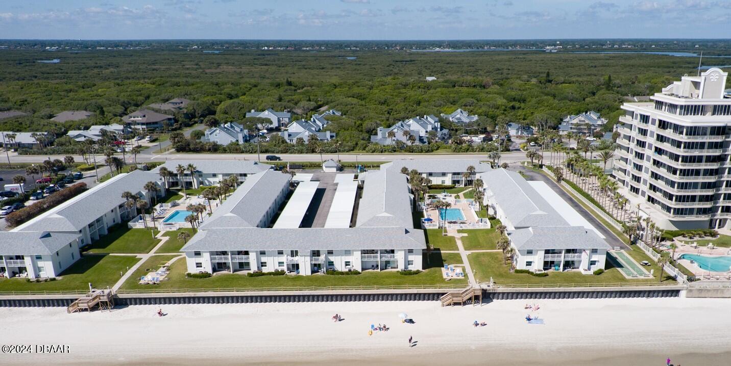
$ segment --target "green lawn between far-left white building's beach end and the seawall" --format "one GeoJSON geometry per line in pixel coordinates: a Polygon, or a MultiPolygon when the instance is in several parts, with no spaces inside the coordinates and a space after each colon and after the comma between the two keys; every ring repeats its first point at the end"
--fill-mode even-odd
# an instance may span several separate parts
{"type": "Polygon", "coordinates": [[[126,272],[140,259],[134,256],[84,256],[61,273],[56,281],[29,283],[25,278],[1,278],[0,292],[4,291],[88,291],[91,282],[96,289],[113,286],[119,272],[126,272]]]}

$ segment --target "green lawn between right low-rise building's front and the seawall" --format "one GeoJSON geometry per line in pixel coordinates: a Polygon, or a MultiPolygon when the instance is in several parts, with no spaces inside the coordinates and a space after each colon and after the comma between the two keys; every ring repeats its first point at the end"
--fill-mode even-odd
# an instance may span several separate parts
{"type": "MultiPolygon", "coordinates": [[[[471,253],[468,256],[469,263],[475,276],[479,282],[489,282],[490,278],[497,285],[556,285],[556,284],[580,284],[597,286],[602,283],[623,283],[627,286],[632,285],[654,285],[660,283],[658,281],[659,270],[655,270],[654,279],[646,280],[629,280],[612,265],[609,261],[606,263],[607,270],[601,275],[583,275],[581,272],[548,272],[548,277],[534,277],[529,274],[511,273],[507,265],[502,262],[502,253],[471,253]]],[[[644,259],[643,259],[644,260],[644,259]]],[[[675,284],[673,278],[664,275],[663,284],[675,284]]]]}

